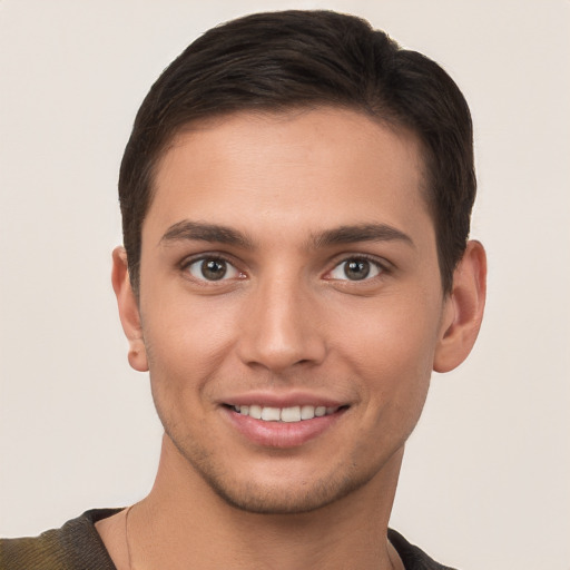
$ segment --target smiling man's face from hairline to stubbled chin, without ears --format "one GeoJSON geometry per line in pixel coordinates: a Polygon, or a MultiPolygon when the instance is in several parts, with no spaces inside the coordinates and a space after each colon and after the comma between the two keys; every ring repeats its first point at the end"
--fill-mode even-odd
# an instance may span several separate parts
{"type": "Polygon", "coordinates": [[[414,137],[348,110],[176,138],[142,226],[138,367],[177,469],[256,512],[393,478],[450,321],[421,187],[414,137]]]}

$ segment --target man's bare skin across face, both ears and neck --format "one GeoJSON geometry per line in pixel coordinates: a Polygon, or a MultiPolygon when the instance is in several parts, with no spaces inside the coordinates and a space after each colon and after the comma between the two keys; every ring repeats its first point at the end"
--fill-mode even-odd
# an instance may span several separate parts
{"type": "MultiPolygon", "coordinates": [[[[476,242],[443,295],[422,173],[413,135],[335,108],[235,114],[173,141],[138,297],[114,254],[129,362],[150,371],[165,426],[129,515],[137,569],[399,568],[379,537],[405,441],[484,304],[476,242]],[[243,432],[230,407],[325,400],[338,410],[298,441],[284,424],[243,432]]],[[[98,524],[119,568],[124,517],[98,524]]]]}

